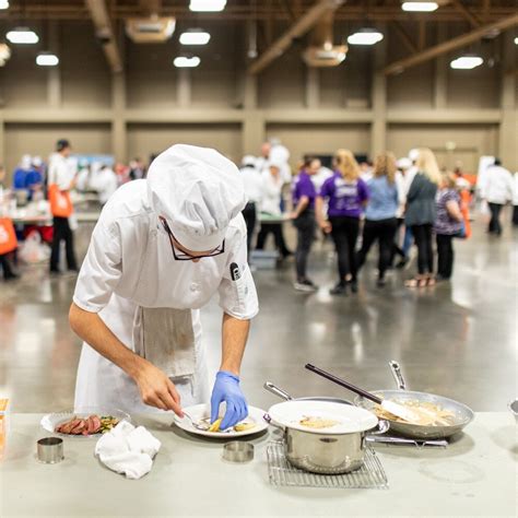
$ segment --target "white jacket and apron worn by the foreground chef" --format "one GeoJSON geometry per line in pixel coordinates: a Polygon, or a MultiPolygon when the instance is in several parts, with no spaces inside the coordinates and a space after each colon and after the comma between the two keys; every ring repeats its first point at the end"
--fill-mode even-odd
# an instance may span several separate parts
{"type": "MultiPolygon", "coordinates": [[[[258,313],[256,286],[247,264],[246,225],[235,217],[225,237],[225,252],[199,262],[174,259],[167,233],[148,201],[146,180],[120,187],[106,203],[83,266],[73,302],[97,313],[106,326],[134,351],[133,321],[139,306],[192,310],[195,375],[173,379],[184,407],[208,402],[209,376],[201,346],[199,309],[217,293],[222,309],[238,319],[258,313]],[[237,263],[240,279],[231,278],[237,263]]],[[[83,343],[75,387],[75,407],[153,412],[134,381],[119,367],[83,343]]]]}

